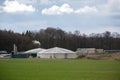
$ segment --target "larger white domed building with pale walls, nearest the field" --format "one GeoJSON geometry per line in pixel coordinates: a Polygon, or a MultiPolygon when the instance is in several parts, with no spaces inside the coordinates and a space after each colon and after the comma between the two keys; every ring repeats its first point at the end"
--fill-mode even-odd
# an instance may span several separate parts
{"type": "Polygon", "coordinates": [[[54,47],[37,54],[39,58],[77,58],[77,54],[71,50],[54,47]]]}

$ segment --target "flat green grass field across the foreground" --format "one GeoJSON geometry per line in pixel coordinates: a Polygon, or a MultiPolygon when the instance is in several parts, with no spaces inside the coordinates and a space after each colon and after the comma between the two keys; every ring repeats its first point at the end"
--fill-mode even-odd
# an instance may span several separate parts
{"type": "Polygon", "coordinates": [[[0,80],[120,80],[120,61],[0,59],[0,80]]]}

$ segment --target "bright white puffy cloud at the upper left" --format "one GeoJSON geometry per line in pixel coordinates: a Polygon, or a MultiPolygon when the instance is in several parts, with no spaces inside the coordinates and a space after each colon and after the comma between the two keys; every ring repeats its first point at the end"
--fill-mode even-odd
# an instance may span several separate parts
{"type": "Polygon", "coordinates": [[[23,3],[19,3],[16,0],[9,1],[6,0],[2,6],[2,12],[7,13],[16,13],[16,12],[34,12],[35,8],[32,5],[25,5],[23,3]]]}

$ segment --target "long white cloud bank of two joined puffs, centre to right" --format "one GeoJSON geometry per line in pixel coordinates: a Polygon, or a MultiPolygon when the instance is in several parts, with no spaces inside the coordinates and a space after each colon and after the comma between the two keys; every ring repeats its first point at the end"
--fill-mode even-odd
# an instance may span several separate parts
{"type": "Polygon", "coordinates": [[[95,12],[98,12],[96,7],[85,6],[78,10],[74,10],[69,4],[63,4],[60,7],[57,5],[53,5],[50,8],[45,8],[42,10],[41,13],[45,15],[61,15],[61,14],[70,14],[70,13],[87,14],[87,13],[95,13],[95,12]]]}

